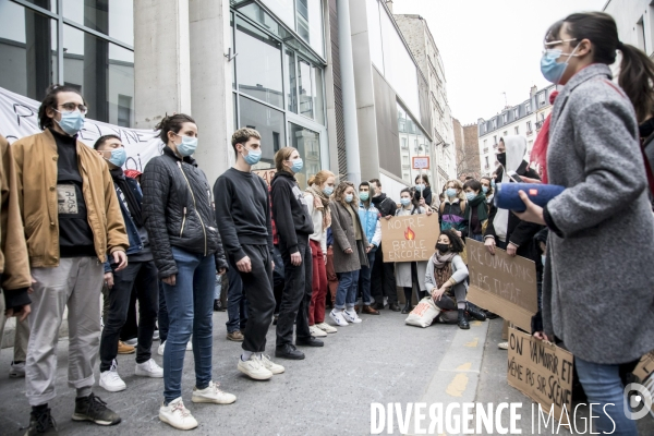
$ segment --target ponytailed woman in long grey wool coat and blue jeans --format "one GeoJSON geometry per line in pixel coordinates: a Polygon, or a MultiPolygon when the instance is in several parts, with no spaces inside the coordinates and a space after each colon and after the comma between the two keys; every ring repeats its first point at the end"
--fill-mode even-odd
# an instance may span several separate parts
{"type": "Polygon", "coordinates": [[[556,337],[574,354],[589,402],[603,411],[597,432],[637,435],[623,413],[620,368],[654,349],[654,218],[632,106],[640,112],[651,100],[628,98],[608,65],[620,50],[618,82],[627,92],[651,89],[642,72],[654,65],[620,43],[613,17],[601,12],[555,23],[545,48],[543,74],[565,85],[552,114],[547,174],[566,191],[545,208],[521,193],[528,209],[520,218],[550,230],[545,331],[534,336],[556,337]]]}

